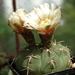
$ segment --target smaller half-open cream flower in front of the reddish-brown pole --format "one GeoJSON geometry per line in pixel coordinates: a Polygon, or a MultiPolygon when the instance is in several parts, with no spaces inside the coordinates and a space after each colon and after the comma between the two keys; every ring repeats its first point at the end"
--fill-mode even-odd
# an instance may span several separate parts
{"type": "Polygon", "coordinates": [[[10,15],[8,20],[8,25],[14,29],[16,32],[21,32],[23,28],[24,23],[24,16],[26,15],[26,12],[24,9],[18,9],[16,12],[13,12],[12,15],[10,15]]]}

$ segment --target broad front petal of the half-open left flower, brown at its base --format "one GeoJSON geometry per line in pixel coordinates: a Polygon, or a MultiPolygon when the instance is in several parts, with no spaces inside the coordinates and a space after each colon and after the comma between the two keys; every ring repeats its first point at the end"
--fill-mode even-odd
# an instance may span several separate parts
{"type": "Polygon", "coordinates": [[[22,20],[17,13],[13,12],[9,17],[9,26],[14,30],[19,30],[22,27],[22,20]]]}

